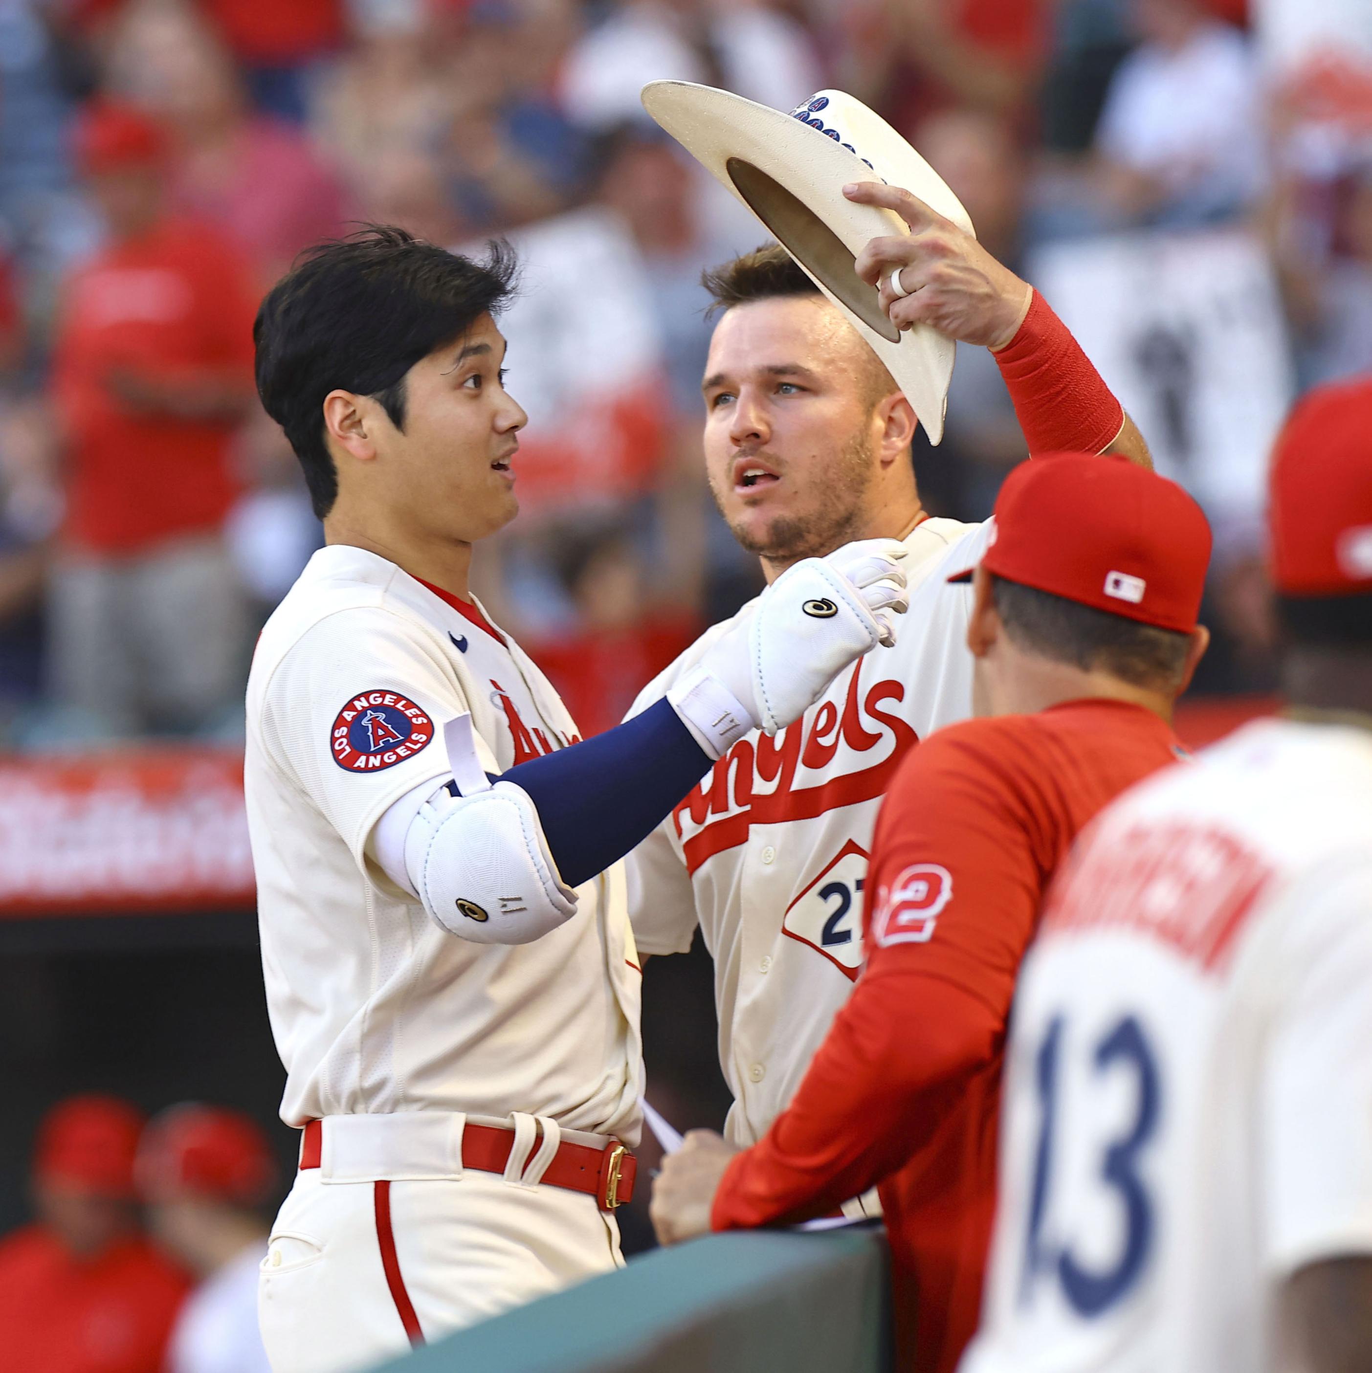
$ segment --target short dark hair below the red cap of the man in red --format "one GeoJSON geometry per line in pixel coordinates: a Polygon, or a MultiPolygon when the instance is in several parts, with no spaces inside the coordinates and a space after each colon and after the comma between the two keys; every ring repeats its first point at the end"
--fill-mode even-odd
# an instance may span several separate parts
{"type": "Polygon", "coordinates": [[[992,577],[992,595],[1005,633],[1031,654],[1082,671],[1099,669],[1150,691],[1176,691],[1181,685],[1189,634],[1112,615],[1004,577],[992,577]]]}

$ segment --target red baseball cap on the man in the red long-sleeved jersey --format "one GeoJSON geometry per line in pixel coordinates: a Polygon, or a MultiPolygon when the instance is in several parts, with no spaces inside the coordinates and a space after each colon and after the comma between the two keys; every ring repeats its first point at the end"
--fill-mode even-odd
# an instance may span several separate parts
{"type": "Polygon", "coordinates": [[[1185,634],[1200,614],[1210,524],[1176,482],[1125,457],[1048,453],[1005,478],[981,566],[1185,634]]]}

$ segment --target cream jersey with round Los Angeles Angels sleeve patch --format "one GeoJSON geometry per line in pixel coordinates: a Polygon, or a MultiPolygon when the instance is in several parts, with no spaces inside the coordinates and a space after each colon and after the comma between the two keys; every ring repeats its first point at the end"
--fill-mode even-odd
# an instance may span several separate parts
{"type": "Polygon", "coordinates": [[[244,785],[282,1118],[523,1111],[632,1144],[640,972],[622,868],[577,888],[577,913],[541,939],[481,945],[368,850],[393,802],[449,776],[448,719],[471,713],[489,773],[577,737],[529,658],[459,604],[335,545],[258,641],[244,785]]]}

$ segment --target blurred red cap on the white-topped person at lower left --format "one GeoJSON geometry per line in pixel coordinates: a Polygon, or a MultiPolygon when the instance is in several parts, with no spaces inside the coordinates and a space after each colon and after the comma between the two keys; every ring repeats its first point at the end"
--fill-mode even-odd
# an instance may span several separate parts
{"type": "Polygon", "coordinates": [[[251,1207],[272,1190],[276,1160],[251,1116],[187,1101],[148,1123],[137,1177],[148,1200],[190,1195],[251,1207]]]}

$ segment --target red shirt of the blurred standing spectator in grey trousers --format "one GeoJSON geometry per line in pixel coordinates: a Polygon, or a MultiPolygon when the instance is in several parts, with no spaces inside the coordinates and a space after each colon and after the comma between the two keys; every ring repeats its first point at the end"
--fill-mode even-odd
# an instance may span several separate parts
{"type": "Polygon", "coordinates": [[[213,229],[166,221],[117,243],[69,281],[54,386],[69,438],[67,537],[133,553],[216,530],[236,493],[236,426],[140,412],[110,384],[126,369],[159,380],[253,376],[257,292],[246,262],[213,229]]]}

